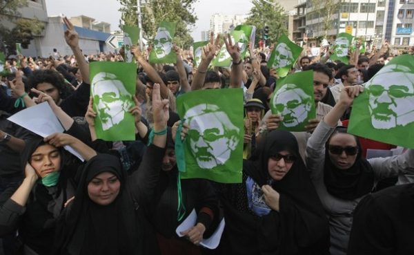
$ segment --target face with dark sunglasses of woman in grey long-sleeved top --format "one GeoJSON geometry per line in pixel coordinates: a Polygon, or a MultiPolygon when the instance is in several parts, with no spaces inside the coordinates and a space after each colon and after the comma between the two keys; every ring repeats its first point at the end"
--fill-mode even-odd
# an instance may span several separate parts
{"type": "Polygon", "coordinates": [[[344,170],[353,166],[357,158],[355,150],[357,152],[355,136],[348,133],[335,133],[328,144],[329,158],[332,164],[338,169],[344,170]],[[353,151],[353,153],[349,151],[353,151]]]}

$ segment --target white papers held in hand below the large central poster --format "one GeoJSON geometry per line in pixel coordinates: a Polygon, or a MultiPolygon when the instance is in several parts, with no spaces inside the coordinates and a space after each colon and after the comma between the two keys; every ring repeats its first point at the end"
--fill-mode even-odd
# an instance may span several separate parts
{"type": "MultiPolygon", "coordinates": [[[[197,223],[197,213],[195,212],[195,209],[191,211],[190,215],[177,227],[175,232],[178,236],[184,236],[180,232],[184,232],[190,227],[193,227],[197,223]]],[[[219,226],[213,233],[213,235],[210,236],[210,238],[203,239],[200,242],[200,245],[208,248],[208,249],[215,249],[217,246],[219,246],[221,234],[223,234],[224,226],[226,223],[224,222],[224,218],[221,220],[219,226]]]]}

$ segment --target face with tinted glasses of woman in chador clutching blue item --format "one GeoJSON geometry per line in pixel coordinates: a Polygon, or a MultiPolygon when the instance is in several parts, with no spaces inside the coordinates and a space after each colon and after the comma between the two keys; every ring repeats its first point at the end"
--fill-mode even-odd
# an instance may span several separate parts
{"type": "Polygon", "coordinates": [[[268,160],[268,173],[273,180],[282,180],[295,162],[289,151],[279,151],[268,160]]]}

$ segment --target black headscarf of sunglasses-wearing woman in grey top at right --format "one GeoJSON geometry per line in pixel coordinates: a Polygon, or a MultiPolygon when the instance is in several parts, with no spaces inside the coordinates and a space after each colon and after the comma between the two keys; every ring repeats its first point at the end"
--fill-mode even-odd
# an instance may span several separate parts
{"type": "MultiPolygon", "coordinates": [[[[337,127],[331,138],[335,133],[346,133],[346,128],[337,127]]],[[[324,182],[328,193],[344,200],[353,200],[370,193],[374,187],[374,172],[371,164],[362,158],[359,140],[355,138],[358,147],[355,163],[351,168],[344,170],[335,167],[329,158],[328,144],[331,138],[325,146],[324,182]]]]}

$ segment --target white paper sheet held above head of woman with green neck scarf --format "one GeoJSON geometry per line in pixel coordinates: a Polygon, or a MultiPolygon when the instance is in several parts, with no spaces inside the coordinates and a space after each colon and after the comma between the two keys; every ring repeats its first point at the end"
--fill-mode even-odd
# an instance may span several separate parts
{"type": "MultiPolygon", "coordinates": [[[[46,136],[52,133],[63,133],[65,131],[48,102],[43,102],[19,111],[19,113],[8,117],[8,120],[19,126],[23,126],[23,128],[40,135],[42,138],[46,138],[46,136]]],[[[79,160],[84,161],[82,156],[72,147],[65,146],[64,148],[79,158],[79,160]]]]}

